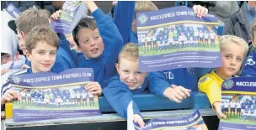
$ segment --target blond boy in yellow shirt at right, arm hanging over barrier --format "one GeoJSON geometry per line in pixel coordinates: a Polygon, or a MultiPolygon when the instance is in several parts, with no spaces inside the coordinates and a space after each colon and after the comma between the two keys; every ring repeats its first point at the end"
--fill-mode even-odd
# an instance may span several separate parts
{"type": "Polygon", "coordinates": [[[219,118],[227,118],[221,112],[221,85],[231,79],[240,70],[248,53],[248,44],[242,38],[233,35],[223,35],[219,39],[222,66],[203,75],[198,81],[199,91],[208,97],[211,106],[219,118]]]}

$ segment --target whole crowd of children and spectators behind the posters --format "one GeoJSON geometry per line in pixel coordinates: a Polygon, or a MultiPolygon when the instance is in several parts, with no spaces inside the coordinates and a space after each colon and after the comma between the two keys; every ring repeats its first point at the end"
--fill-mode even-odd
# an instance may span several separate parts
{"type": "MultiPolygon", "coordinates": [[[[158,72],[139,70],[136,13],[158,10],[149,1],[113,2],[105,14],[93,1],[85,1],[92,17],[83,17],[72,34],[56,34],[50,23],[60,17],[61,5],[51,2],[1,2],[1,106],[20,100],[9,84],[12,75],[39,72],[59,73],[72,68],[93,68],[95,81],[85,88],[93,95],[105,96],[121,117],[134,94],[149,91],[171,101],[181,102],[191,91],[208,96],[220,118],[221,84],[236,76],[256,76],[256,3],[189,2],[196,17],[215,15],[224,26],[219,38],[222,66],[218,68],[180,68],[158,72]],[[21,12],[13,19],[3,11],[13,3],[21,12]],[[41,8],[41,9],[40,9],[41,8]]],[[[256,108],[253,108],[255,110],[256,108]]],[[[141,112],[133,101],[133,119],[143,127],[141,112]]]]}

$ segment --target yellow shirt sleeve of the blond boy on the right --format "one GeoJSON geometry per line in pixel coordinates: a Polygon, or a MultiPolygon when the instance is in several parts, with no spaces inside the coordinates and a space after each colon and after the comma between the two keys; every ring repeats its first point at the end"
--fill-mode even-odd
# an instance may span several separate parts
{"type": "Polygon", "coordinates": [[[210,77],[201,77],[198,81],[198,89],[206,94],[211,105],[221,101],[221,87],[210,77]]]}

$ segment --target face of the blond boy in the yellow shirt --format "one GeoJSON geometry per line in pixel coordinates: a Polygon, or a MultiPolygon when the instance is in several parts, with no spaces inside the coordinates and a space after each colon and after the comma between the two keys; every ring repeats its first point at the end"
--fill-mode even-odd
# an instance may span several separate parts
{"type": "Polygon", "coordinates": [[[217,71],[222,78],[231,78],[235,75],[243,62],[245,50],[241,49],[239,44],[229,44],[227,47],[221,49],[221,59],[223,66],[217,71]]]}

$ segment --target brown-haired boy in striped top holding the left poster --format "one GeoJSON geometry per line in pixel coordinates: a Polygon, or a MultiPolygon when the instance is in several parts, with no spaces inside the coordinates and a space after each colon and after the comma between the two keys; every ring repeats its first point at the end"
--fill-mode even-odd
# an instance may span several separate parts
{"type": "MultiPolygon", "coordinates": [[[[56,61],[56,51],[60,44],[57,34],[51,29],[50,25],[38,25],[26,35],[26,55],[31,62],[31,68],[19,71],[13,75],[48,72],[56,61]]],[[[1,90],[1,106],[6,102],[19,99],[18,92],[10,89],[9,77],[3,77],[4,82],[1,90]]],[[[1,109],[2,109],[1,108],[1,109]]]]}

